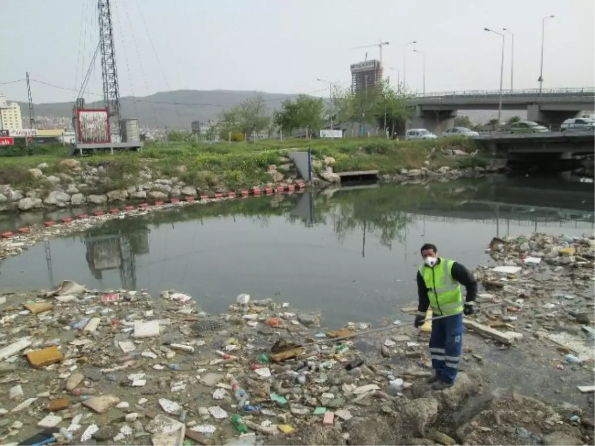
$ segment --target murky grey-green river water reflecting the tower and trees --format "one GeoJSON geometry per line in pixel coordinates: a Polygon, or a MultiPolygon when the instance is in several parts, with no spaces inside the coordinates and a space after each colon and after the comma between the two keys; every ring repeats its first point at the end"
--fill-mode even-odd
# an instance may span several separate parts
{"type": "MultiPolygon", "coordinates": [[[[593,183],[497,178],[197,204],[38,244],[0,261],[0,289],[63,279],[153,295],[176,289],[208,313],[248,293],[320,312],[325,326],[377,323],[417,300],[424,242],[469,268],[494,264],[485,253],[494,236],[591,233],[590,210],[593,183]]],[[[32,217],[0,226],[19,218],[32,217]]]]}

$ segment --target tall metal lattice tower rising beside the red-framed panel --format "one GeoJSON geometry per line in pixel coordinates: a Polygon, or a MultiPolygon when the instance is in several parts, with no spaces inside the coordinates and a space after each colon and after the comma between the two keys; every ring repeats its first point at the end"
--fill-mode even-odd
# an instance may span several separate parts
{"type": "Polygon", "coordinates": [[[105,106],[109,108],[109,117],[117,119],[114,122],[114,133],[120,133],[120,89],[115,66],[114,27],[109,2],[110,0],[97,1],[101,77],[104,81],[104,102],[105,106]]]}

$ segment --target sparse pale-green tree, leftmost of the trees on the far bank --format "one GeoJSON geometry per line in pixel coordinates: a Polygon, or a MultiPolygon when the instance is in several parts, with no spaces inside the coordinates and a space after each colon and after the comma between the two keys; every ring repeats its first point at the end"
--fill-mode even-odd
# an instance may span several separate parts
{"type": "Polygon", "coordinates": [[[266,129],[271,117],[261,95],[248,98],[221,115],[220,138],[227,139],[229,132],[252,135],[266,129]]]}

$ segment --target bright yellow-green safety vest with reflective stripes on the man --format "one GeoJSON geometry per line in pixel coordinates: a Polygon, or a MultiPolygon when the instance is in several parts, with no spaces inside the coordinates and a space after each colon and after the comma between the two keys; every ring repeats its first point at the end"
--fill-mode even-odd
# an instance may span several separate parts
{"type": "Polygon", "coordinates": [[[453,263],[454,260],[441,258],[440,263],[433,268],[425,264],[419,267],[419,273],[428,289],[430,307],[434,314],[440,316],[462,313],[465,306],[461,283],[452,278],[453,263]]]}

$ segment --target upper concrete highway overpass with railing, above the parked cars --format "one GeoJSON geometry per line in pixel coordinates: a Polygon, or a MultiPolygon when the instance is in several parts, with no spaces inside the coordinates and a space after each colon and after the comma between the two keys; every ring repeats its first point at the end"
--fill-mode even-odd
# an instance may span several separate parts
{"type": "MultiPolygon", "coordinates": [[[[412,127],[440,133],[454,125],[458,110],[498,110],[500,91],[426,93],[409,104],[415,107],[412,127]]],[[[528,120],[557,129],[581,111],[595,110],[595,87],[505,90],[502,110],[527,110],[528,120]]]]}

